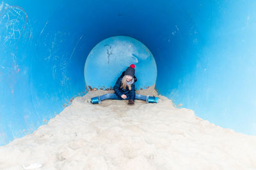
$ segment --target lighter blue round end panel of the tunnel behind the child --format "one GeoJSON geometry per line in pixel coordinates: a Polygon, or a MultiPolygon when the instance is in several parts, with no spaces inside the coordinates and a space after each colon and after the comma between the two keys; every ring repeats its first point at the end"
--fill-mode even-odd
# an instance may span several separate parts
{"type": "Polygon", "coordinates": [[[136,66],[136,90],[155,85],[156,61],[147,46],[129,36],[113,36],[100,41],[84,64],[86,87],[112,89],[118,76],[131,64],[136,66]]]}

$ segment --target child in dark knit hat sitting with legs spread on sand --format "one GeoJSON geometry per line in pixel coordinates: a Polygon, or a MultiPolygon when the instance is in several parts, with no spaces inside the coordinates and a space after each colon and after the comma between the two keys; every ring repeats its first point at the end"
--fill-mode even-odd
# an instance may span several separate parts
{"type": "Polygon", "coordinates": [[[157,103],[158,97],[135,94],[134,83],[137,81],[137,78],[134,76],[134,68],[134,64],[131,64],[131,66],[127,67],[126,71],[124,71],[118,78],[114,87],[115,93],[93,97],[91,103],[98,104],[106,99],[129,100],[128,104],[134,104],[134,99],[140,99],[147,103],[157,103]]]}

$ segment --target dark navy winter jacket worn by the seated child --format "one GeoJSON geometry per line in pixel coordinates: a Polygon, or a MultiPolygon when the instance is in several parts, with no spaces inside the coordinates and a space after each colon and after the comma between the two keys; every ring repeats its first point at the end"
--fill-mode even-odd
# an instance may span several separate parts
{"type": "Polygon", "coordinates": [[[129,97],[129,99],[132,99],[134,101],[135,99],[135,87],[134,87],[134,83],[137,81],[137,78],[136,76],[134,76],[134,83],[131,85],[131,90],[129,90],[129,88],[126,86],[125,89],[122,89],[121,85],[122,85],[122,78],[124,77],[124,73],[125,71],[123,72],[123,74],[118,78],[118,80],[116,81],[116,84],[115,84],[115,87],[114,87],[114,90],[115,90],[115,94],[122,98],[121,96],[123,94],[125,94],[127,97],[129,97]]]}

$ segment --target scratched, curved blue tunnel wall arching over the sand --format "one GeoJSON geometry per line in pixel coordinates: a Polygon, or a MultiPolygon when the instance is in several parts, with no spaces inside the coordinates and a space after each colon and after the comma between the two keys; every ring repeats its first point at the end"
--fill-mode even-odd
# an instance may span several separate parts
{"type": "Polygon", "coordinates": [[[112,36],[147,46],[160,94],[221,127],[256,134],[255,9],[254,0],[1,0],[0,144],[85,94],[86,57],[112,36]]]}

